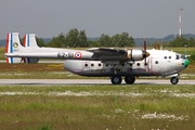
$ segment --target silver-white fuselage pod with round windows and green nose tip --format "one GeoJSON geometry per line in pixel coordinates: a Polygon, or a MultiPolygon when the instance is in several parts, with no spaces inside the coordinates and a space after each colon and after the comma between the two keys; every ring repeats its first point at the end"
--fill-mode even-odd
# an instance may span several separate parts
{"type": "Polygon", "coordinates": [[[188,65],[183,55],[167,50],[148,50],[146,65],[143,61],[133,64],[106,64],[101,61],[66,60],[64,68],[81,76],[169,76],[178,74],[188,65]]]}

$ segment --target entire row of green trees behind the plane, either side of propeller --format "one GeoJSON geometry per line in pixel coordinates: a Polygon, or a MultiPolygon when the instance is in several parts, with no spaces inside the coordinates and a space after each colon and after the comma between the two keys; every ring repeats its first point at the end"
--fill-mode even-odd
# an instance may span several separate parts
{"type": "MultiPolygon", "coordinates": [[[[100,38],[89,40],[84,30],[78,30],[76,28],[70,29],[66,35],[61,32],[58,36],[53,37],[48,43],[41,38],[37,38],[39,47],[52,47],[52,48],[93,48],[93,47],[134,47],[134,39],[129,36],[128,32],[121,32],[109,37],[108,35],[101,35],[100,38]]],[[[22,40],[23,41],[23,40],[22,40]]],[[[176,37],[170,41],[155,41],[153,43],[147,42],[148,47],[155,46],[162,47],[195,47],[195,40],[193,37],[176,37]]]]}

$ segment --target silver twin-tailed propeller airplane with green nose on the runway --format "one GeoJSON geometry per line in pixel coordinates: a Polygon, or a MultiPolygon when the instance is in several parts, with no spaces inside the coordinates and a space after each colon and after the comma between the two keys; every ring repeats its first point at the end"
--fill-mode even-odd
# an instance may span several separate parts
{"type": "Polygon", "coordinates": [[[185,69],[190,61],[183,54],[168,50],[91,48],[70,50],[40,48],[36,35],[24,36],[21,44],[18,32],[6,36],[6,63],[38,63],[39,58],[65,60],[64,68],[73,74],[88,77],[110,77],[113,84],[120,84],[125,77],[127,84],[133,84],[139,76],[171,76],[170,82],[179,82],[179,73],[185,69]]]}

